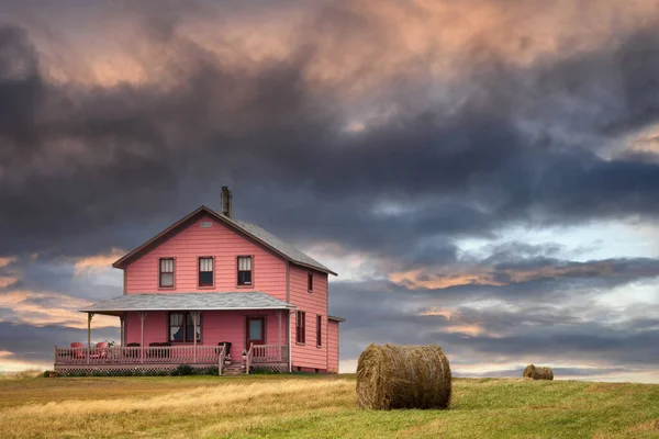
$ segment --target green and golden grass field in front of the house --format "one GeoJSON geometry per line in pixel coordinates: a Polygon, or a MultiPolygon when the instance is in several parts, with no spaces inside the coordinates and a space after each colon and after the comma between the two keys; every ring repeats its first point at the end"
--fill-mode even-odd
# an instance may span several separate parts
{"type": "Polygon", "coordinates": [[[0,380],[0,438],[659,438],[659,385],[454,381],[448,410],[355,407],[355,378],[0,380]]]}

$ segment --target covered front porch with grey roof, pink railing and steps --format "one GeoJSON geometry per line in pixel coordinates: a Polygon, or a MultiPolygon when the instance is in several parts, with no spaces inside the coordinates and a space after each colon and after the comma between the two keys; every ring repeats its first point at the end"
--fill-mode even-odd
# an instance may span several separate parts
{"type": "Polygon", "coordinates": [[[80,309],[87,344],[55,347],[55,370],[172,370],[180,364],[290,371],[290,312],[294,306],[260,292],[125,294],[80,309]],[[97,314],[120,319],[120,341],[92,344],[97,314]]]}

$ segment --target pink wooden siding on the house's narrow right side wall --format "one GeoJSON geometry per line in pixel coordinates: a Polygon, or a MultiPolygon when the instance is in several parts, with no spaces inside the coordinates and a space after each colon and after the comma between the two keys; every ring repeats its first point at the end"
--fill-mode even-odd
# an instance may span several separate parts
{"type": "Polygon", "coordinates": [[[306,342],[295,342],[295,313],[291,314],[291,358],[297,368],[327,370],[327,274],[289,263],[290,303],[306,313],[306,342]],[[313,272],[313,292],[306,289],[308,273],[313,272]],[[323,316],[323,346],[316,347],[316,315],[323,316]]]}

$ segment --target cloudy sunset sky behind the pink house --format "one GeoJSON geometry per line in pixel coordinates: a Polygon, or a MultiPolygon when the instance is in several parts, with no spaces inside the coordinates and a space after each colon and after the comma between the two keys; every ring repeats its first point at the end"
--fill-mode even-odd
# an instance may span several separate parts
{"type": "MultiPolygon", "coordinates": [[[[0,4],[0,370],[230,185],[338,272],[340,370],[659,382],[659,3],[0,4]]],[[[118,339],[97,316],[92,340],[118,339]]]]}

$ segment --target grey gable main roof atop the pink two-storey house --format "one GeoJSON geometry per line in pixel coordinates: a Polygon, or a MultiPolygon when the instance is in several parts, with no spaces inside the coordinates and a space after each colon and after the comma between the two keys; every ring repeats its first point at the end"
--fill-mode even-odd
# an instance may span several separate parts
{"type": "Polygon", "coordinates": [[[181,229],[182,227],[188,225],[188,223],[190,223],[193,218],[196,218],[198,215],[203,214],[203,213],[213,217],[217,222],[228,226],[230,228],[234,229],[238,234],[246,236],[247,238],[256,241],[257,244],[260,244],[266,249],[270,250],[271,252],[273,252],[276,255],[279,255],[280,257],[282,257],[283,259],[286,259],[290,262],[293,262],[293,263],[295,263],[298,266],[302,266],[302,267],[313,268],[315,270],[319,270],[319,271],[322,271],[325,273],[337,275],[334,271],[330,270],[327,267],[323,266],[321,262],[316,261],[315,259],[311,258],[310,256],[298,250],[290,244],[282,241],[281,239],[279,239],[275,235],[270,234],[269,232],[265,230],[264,228],[261,228],[255,224],[245,223],[242,221],[230,218],[227,216],[219,214],[217,212],[215,212],[204,205],[198,207],[197,210],[191,212],[189,215],[185,216],[183,218],[179,219],[171,226],[167,227],[165,230],[160,232],[158,235],[154,236],[153,238],[150,238],[149,240],[147,240],[139,247],[129,251],[126,255],[124,255],[123,257],[118,259],[112,264],[112,267],[125,268],[129,263],[131,263],[133,260],[135,260],[136,258],[142,256],[145,251],[148,251],[152,248],[156,247],[161,240],[168,239],[169,237],[174,236],[176,233],[179,232],[179,229],[181,229]]]}

